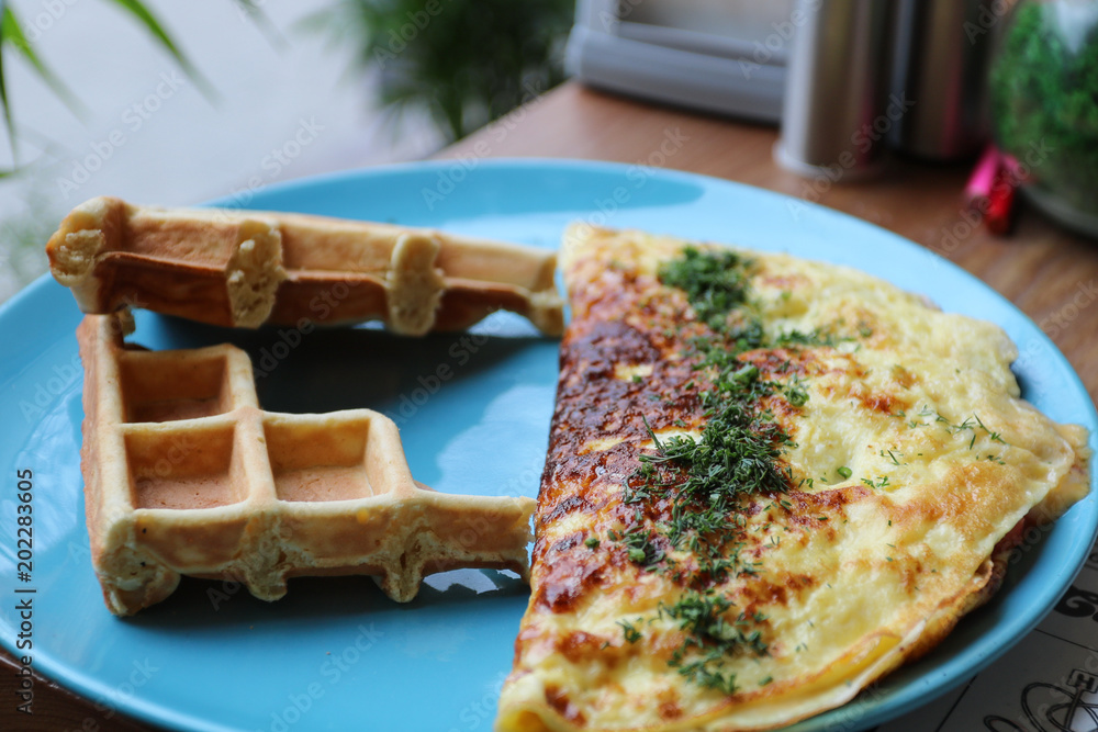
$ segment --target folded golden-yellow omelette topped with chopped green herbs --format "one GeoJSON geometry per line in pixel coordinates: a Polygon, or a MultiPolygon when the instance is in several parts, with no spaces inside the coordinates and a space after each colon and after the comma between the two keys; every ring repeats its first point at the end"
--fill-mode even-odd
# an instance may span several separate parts
{"type": "Polygon", "coordinates": [[[498,732],[771,730],[941,641],[1086,430],[1017,350],[854,269],[584,224],[498,732]]]}

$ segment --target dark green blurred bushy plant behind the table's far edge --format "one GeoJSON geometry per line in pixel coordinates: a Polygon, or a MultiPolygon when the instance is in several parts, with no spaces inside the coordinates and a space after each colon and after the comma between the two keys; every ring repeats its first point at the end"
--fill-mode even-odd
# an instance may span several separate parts
{"type": "Polygon", "coordinates": [[[377,69],[381,103],[426,111],[448,139],[564,79],[574,0],[340,0],[309,25],[377,69]]]}

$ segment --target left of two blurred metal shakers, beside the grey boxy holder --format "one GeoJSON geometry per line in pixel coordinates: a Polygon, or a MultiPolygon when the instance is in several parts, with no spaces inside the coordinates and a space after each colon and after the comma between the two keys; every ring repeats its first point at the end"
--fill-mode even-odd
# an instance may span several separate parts
{"type": "Polygon", "coordinates": [[[874,171],[906,110],[889,109],[894,2],[798,0],[778,165],[832,181],[874,171]]]}

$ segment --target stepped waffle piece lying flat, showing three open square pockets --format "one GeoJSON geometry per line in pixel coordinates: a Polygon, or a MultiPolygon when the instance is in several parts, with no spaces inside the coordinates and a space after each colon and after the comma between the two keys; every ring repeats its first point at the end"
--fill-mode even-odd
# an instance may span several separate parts
{"type": "Polygon", "coordinates": [[[436,493],[384,415],[262,412],[240,349],[139,350],[123,327],[88,315],[77,330],[88,533],[112,612],[163,600],[183,574],[266,600],[290,576],[370,574],[401,603],[432,572],[528,576],[533,499],[436,493]]]}

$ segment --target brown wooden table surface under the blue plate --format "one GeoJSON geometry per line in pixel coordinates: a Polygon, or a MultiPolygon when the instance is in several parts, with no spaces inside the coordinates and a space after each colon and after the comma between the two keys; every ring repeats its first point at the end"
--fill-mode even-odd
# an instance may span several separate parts
{"type": "MultiPolygon", "coordinates": [[[[1098,241],[1039,212],[991,236],[965,213],[971,164],[893,159],[862,182],[813,183],[774,165],[773,127],[643,104],[568,83],[439,153],[439,158],[552,157],[654,165],[750,183],[821,203],[905,236],[968,270],[1029,315],[1098,397],[1098,241]],[[973,221],[976,225],[973,226],[973,221]]],[[[15,666],[0,655],[2,730],[153,730],[36,677],[34,714],[14,711],[15,666]]]]}

